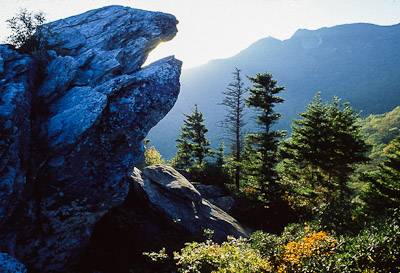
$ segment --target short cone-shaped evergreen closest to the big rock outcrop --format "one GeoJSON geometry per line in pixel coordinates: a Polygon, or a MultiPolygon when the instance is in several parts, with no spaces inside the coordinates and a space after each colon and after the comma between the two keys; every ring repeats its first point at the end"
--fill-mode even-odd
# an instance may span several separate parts
{"type": "Polygon", "coordinates": [[[180,139],[176,139],[178,145],[177,156],[173,159],[175,167],[188,168],[193,165],[202,165],[204,158],[213,154],[208,147],[210,142],[206,138],[208,129],[202,123],[204,121],[203,114],[199,111],[197,104],[191,115],[184,114],[186,119],[183,121],[184,126],[181,127],[180,139]]]}

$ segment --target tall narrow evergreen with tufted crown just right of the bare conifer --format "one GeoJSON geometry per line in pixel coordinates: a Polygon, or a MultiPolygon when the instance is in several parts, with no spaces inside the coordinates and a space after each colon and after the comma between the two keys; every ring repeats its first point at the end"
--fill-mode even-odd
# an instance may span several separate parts
{"type": "Polygon", "coordinates": [[[282,103],[284,99],[277,96],[279,92],[285,89],[283,86],[277,86],[277,81],[273,79],[270,73],[257,74],[256,77],[247,77],[253,83],[253,89],[249,89],[250,95],[246,99],[248,107],[254,107],[258,110],[257,124],[260,131],[249,135],[257,152],[261,155],[261,166],[258,171],[258,180],[262,191],[269,191],[269,196],[277,194],[277,172],[275,165],[277,163],[277,149],[279,138],[283,132],[274,131],[272,125],[280,118],[273,108],[276,104],[282,103]]]}

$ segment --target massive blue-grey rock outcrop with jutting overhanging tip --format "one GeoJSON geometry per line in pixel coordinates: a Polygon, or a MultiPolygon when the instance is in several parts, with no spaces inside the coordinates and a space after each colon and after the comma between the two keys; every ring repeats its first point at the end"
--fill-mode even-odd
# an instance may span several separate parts
{"type": "Polygon", "coordinates": [[[176,24],[110,6],[50,23],[40,61],[0,46],[0,251],[40,272],[73,270],[176,101],[180,61],[142,68],[176,24]]]}

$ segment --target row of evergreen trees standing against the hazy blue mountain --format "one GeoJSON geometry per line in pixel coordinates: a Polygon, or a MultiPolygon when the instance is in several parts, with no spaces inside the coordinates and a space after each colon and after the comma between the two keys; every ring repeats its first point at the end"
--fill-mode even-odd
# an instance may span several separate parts
{"type": "MultiPolygon", "coordinates": [[[[232,74],[233,80],[220,103],[226,108],[220,125],[226,132],[229,155],[225,156],[223,142],[217,151],[212,151],[205,118],[195,105],[191,114],[184,114],[176,139],[176,156],[169,164],[186,170],[194,181],[220,184],[233,195],[271,209],[280,211],[284,203],[295,214],[317,216],[325,219],[327,225],[341,225],[344,214],[351,218],[351,182],[359,179],[355,178],[355,170],[368,162],[371,148],[361,134],[359,113],[337,97],[324,102],[317,92],[305,111],[298,113],[299,119],[293,120],[292,133],[287,136],[285,131],[273,128],[281,116],[274,108],[284,103],[279,94],[285,87],[279,86],[268,72],[246,76],[251,88],[244,87],[239,69],[232,74]],[[251,132],[246,128],[246,108],[256,112],[257,126],[251,132]]],[[[398,194],[399,187],[389,190],[391,182],[382,178],[385,168],[381,167],[380,174],[373,176],[380,179],[372,179],[371,174],[362,179],[369,183],[370,191],[380,188],[378,195],[390,192],[393,196],[398,194]]],[[[393,203],[393,197],[386,197],[388,203],[393,203]]]]}

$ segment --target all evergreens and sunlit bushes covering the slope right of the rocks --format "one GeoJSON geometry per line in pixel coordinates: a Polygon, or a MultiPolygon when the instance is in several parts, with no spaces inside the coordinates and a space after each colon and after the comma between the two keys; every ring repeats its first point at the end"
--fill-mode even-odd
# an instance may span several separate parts
{"type": "Polygon", "coordinates": [[[365,141],[360,114],[337,97],[324,102],[317,92],[287,136],[272,127],[284,87],[265,72],[248,77],[253,87],[245,89],[240,70],[233,75],[221,103],[227,108],[221,126],[229,155],[223,144],[216,152],[209,148],[205,119],[195,105],[185,114],[170,164],[193,181],[224,186],[238,203],[229,213],[258,231],[249,240],[187,243],[173,252],[173,260],[161,253],[171,272],[399,271],[399,133],[378,164],[368,162],[372,145],[365,141]],[[245,129],[245,107],[256,109],[253,132],[245,129]]]}

